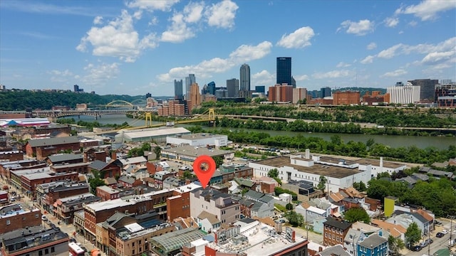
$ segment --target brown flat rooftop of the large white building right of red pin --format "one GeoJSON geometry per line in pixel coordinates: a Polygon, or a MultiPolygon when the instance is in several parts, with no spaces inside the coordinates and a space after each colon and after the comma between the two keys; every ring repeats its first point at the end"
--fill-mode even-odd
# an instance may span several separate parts
{"type": "Polygon", "coordinates": [[[291,166],[294,169],[298,171],[302,171],[308,174],[316,174],[316,175],[323,175],[323,176],[328,176],[328,177],[333,177],[333,178],[344,178],[347,176],[351,176],[354,174],[358,174],[361,171],[356,169],[349,169],[349,168],[343,168],[339,166],[330,166],[326,164],[314,164],[314,166],[311,167],[305,167],[305,166],[299,166],[296,164],[291,164],[290,163],[290,158],[288,156],[279,156],[275,157],[272,159],[265,159],[265,160],[260,160],[256,161],[252,164],[262,164],[266,166],[273,166],[276,168],[281,168],[284,166],[291,166]]]}

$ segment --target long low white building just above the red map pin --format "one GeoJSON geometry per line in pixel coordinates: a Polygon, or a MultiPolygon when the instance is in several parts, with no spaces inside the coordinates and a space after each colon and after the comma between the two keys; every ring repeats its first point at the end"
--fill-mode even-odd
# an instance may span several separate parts
{"type": "Polygon", "coordinates": [[[166,137],[166,143],[172,145],[187,144],[190,146],[227,146],[228,136],[219,134],[184,134],[166,137]]]}

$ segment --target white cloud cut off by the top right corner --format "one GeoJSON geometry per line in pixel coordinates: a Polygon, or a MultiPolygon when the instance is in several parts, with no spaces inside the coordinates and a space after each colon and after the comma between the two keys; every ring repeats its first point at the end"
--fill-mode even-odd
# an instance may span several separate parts
{"type": "Polygon", "coordinates": [[[417,5],[401,7],[395,11],[395,14],[413,14],[422,21],[433,20],[437,18],[440,11],[456,9],[455,0],[425,0],[417,5]]]}

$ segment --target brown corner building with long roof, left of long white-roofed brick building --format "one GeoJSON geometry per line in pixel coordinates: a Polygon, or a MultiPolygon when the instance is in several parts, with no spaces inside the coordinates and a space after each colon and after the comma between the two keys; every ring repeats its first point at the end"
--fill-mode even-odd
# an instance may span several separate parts
{"type": "Polygon", "coordinates": [[[56,203],[53,204],[53,215],[68,225],[73,223],[74,213],[78,210],[83,210],[84,203],[94,203],[98,201],[101,201],[101,198],[93,196],[91,193],[59,198],[56,203]]]}

